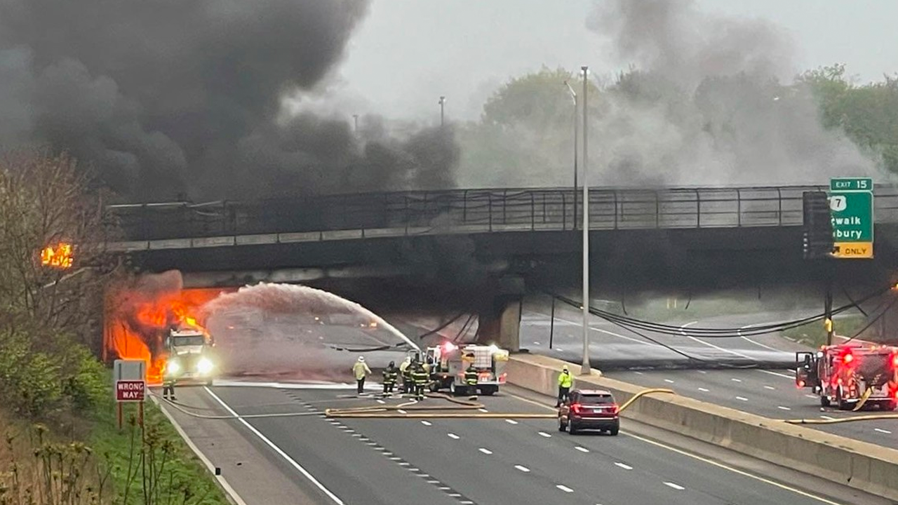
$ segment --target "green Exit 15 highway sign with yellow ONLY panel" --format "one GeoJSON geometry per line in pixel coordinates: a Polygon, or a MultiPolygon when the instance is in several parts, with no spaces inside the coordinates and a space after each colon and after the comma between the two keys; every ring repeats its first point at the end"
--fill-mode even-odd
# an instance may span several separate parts
{"type": "Polygon", "coordinates": [[[832,243],[836,258],[873,258],[873,180],[830,181],[832,243]]]}

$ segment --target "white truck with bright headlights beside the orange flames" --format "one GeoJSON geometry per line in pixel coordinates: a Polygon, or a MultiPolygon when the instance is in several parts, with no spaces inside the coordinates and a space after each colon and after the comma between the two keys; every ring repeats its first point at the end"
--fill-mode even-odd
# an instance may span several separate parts
{"type": "Polygon", "coordinates": [[[212,379],[216,376],[214,347],[215,342],[205,332],[172,329],[165,339],[168,359],[163,379],[176,384],[197,382],[212,385],[212,379]]]}

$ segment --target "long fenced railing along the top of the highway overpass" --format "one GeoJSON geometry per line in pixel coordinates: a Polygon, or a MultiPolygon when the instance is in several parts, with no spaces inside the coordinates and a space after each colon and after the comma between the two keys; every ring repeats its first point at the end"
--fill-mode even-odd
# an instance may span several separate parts
{"type": "MultiPolygon", "coordinates": [[[[595,230],[797,226],[802,193],[818,186],[595,189],[595,230]]],[[[582,191],[442,190],[329,195],[309,199],[172,202],[110,206],[128,240],[391,230],[416,235],[461,231],[574,230],[582,226],[582,191]],[[575,205],[576,200],[576,205],[575,205]]],[[[898,188],[876,187],[876,221],[898,222],[898,188]]],[[[375,235],[375,234],[372,234],[375,235]]]]}

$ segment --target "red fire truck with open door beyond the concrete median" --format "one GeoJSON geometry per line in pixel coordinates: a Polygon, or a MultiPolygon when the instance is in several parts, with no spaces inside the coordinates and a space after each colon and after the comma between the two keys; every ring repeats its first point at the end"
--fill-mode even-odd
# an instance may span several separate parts
{"type": "Polygon", "coordinates": [[[820,405],[840,410],[898,406],[898,348],[849,342],[797,352],[796,385],[820,395],[820,405]]]}

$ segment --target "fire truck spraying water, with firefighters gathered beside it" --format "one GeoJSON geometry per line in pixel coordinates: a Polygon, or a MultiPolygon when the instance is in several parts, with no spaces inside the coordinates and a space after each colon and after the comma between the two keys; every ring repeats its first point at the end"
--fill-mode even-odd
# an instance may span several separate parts
{"type": "Polygon", "coordinates": [[[499,385],[506,383],[508,351],[495,345],[464,346],[444,342],[427,348],[430,363],[430,390],[448,389],[452,394],[496,394],[499,385]],[[473,363],[477,368],[477,386],[471,388],[464,380],[464,371],[473,363]],[[473,391],[471,391],[473,389],[473,391]]]}

